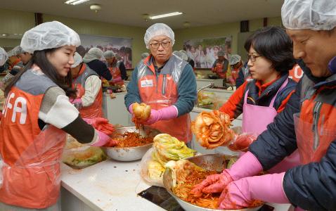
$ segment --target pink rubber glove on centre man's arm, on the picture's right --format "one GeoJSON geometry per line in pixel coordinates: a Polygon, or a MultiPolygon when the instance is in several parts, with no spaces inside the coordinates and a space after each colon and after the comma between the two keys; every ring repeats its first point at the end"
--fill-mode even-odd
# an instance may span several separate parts
{"type": "Polygon", "coordinates": [[[169,106],[166,108],[161,108],[159,110],[152,109],[150,110],[150,117],[143,124],[154,124],[160,120],[170,120],[176,118],[178,115],[177,108],[175,106],[169,106]]]}

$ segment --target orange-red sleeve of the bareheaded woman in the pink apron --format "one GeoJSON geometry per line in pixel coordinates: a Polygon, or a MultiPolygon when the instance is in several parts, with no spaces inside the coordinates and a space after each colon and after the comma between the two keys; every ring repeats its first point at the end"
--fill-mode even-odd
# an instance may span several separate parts
{"type": "Polygon", "coordinates": [[[245,87],[247,82],[244,82],[233,94],[228,98],[228,101],[219,108],[223,113],[230,115],[230,118],[233,119],[238,117],[243,113],[243,99],[245,93],[245,87]]]}

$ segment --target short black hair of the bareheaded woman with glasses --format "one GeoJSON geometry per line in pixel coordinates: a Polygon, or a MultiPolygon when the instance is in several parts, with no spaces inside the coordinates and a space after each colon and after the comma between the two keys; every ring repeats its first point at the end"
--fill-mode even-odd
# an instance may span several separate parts
{"type": "Polygon", "coordinates": [[[250,47],[272,63],[272,67],[283,74],[295,65],[292,40],[281,27],[263,27],[247,38],[245,49],[250,47]]]}

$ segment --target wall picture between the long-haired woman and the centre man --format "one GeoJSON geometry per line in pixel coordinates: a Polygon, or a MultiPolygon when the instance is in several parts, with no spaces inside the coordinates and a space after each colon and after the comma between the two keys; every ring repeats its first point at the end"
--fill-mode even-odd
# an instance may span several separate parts
{"type": "Polygon", "coordinates": [[[79,34],[81,45],[78,46],[77,52],[84,56],[89,49],[97,47],[102,51],[117,53],[119,59],[124,62],[127,69],[132,68],[132,39],[121,37],[105,37],[98,35],[79,34]]]}

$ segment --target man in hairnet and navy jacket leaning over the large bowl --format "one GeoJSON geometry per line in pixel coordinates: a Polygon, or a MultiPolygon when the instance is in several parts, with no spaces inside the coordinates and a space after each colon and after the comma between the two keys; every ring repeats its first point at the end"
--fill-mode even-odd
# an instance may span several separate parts
{"type": "Polygon", "coordinates": [[[335,210],[336,1],[285,0],[281,18],[304,76],[285,110],[246,156],[225,170],[226,176],[219,176],[222,182],[208,180],[205,186],[219,184],[224,189],[219,199],[224,209],[259,199],[291,203],[296,210],[335,210]],[[301,165],[252,177],[296,149],[301,165]]]}

